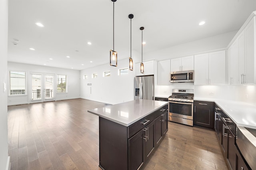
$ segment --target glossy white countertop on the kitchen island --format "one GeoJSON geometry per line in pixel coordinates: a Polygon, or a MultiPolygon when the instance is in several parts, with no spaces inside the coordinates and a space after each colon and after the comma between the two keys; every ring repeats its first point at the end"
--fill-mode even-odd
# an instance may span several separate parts
{"type": "Polygon", "coordinates": [[[88,112],[128,127],[167,103],[166,101],[138,99],[88,110],[88,112]]]}

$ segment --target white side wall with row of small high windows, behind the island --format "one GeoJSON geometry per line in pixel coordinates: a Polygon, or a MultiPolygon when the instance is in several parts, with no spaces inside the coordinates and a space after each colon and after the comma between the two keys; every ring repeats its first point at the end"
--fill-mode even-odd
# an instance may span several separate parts
{"type": "Polygon", "coordinates": [[[108,104],[133,100],[135,70],[129,70],[127,75],[118,75],[118,69],[125,67],[129,67],[128,58],[118,60],[117,67],[108,63],[81,70],[81,98],[108,104]],[[110,71],[110,77],[103,77],[103,71],[110,71]],[[92,79],[92,73],[98,73],[98,77],[92,79]],[[89,79],[83,79],[83,75],[88,75],[89,79]],[[92,85],[87,85],[88,83],[92,85]]]}

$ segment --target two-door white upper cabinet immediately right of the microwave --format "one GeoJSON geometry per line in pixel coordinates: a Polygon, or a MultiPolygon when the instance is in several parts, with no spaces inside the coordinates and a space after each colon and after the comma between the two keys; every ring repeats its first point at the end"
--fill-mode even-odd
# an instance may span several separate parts
{"type": "Polygon", "coordinates": [[[226,51],[194,56],[194,85],[226,83],[226,51]]]}

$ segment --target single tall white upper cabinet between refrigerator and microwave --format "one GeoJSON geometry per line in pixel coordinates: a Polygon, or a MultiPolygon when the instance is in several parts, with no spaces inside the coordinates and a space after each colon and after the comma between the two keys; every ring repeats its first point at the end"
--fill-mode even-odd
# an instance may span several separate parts
{"type": "Polygon", "coordinates": [[[170,85],[171,60],[158,61],[157,63],[157,85],[170,85]]]}

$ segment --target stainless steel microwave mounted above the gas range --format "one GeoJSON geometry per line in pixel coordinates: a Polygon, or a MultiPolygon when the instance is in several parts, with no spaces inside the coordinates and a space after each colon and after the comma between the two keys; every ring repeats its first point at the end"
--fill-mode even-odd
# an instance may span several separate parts
{"type": "Polygon", "coordinates": [[[175,71],[170,73],[171,83],[194,82],[194,70],[175,71]]]}

